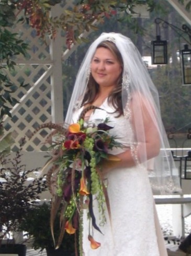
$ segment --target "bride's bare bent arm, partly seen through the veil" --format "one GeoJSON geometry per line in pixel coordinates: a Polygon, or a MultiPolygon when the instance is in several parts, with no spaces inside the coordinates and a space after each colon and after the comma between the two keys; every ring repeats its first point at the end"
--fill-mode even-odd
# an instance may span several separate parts
{"type": "Polygon", "coordinates": [[[114,168],[133,167],[136,163],[136,156],[139,162],[149,160],[159,154],[160,137],[158,127],[154,124],[155,112],[147,99],[140,94],[134,94],[130,103],[132,113],[132,129],[134,134],[141,135],[136,138],[138,144],[134,145],[134,155],[131,149],[116,155],[120,161],[105,161],[102,169],[108,172],[114,168]]]}

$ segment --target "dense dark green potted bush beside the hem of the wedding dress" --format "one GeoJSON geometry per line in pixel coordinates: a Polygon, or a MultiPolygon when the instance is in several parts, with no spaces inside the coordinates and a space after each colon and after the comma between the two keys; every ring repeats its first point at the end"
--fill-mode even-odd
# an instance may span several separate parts
{"type": "MultiPolygon", "coordinates": [[[[50,202],[43,202],[32,205],[30,211],[25,215],[20,223],[20,230],[27,232],[31,238],[31,246],[40,251],[46,249],[47,256],[73,256],[75,255],[75,245],[73,235],[64,234],[59,249],[54,248],[54,242],[50,229],[50,202]]],[[[57,214],[54,222],[55,240],[59,237],[60,213],[57,214]]]]}

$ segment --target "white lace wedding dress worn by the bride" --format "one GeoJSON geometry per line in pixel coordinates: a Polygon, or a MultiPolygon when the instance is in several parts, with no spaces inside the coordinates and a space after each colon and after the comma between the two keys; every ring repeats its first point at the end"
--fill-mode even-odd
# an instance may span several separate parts
{"type": "MultiPolygon", "coordinates": [[[[128,140],[133,136],[130,124],[123,116],[116,118],[111,114],[114,110],[107,100],[89,117],[89,121],[109,118],[109,125],[114,128],[110,134],[119,137],[118,141],[128,146],[128,140]]],[[[75,113],[73,121],[77,120],[81,110],[75,113]]],[[[113,154],[121,152],[115,149],[113,154]]],[[[111,208],[111,224],[100,227],[101,234],[93,230],[93,238],[101,243],[98,249],[91,249],[88,241],[89,221],[84,210],[83,250],[84,256],[165,256],[166,250],[157,216],[154,217],[155,206],[147,170],[143,167],[115,169],[107,175],[108,195],[111,208]],[[158,226],[158,228],[156,228],[158,226]],[[158,234],[156,234],[158,233],[158,234]],[[159,245],[161,243],[161,245],[159,245]],[[162,249],[160,249],[162,247],[162,249]],[[163,252],[161,252],[163,251],[163,252]]],[[[94,200],[94,213],[99,224],[98,207],[94,200]]],[[[99,226],[99,225],[98,225],[99,226]]]]}

